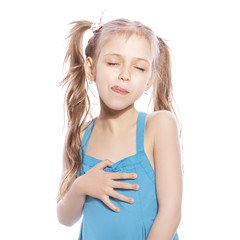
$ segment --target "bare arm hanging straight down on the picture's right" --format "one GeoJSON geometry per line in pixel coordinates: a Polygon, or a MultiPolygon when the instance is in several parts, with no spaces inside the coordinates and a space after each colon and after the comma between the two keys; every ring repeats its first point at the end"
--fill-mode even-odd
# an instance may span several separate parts
{"type": "Polygon", "coordinates": [[[174,116],[161,110],[152,118],[159,209],[147,240],[172,240],[181,219],[182,170],[174,116]]]}

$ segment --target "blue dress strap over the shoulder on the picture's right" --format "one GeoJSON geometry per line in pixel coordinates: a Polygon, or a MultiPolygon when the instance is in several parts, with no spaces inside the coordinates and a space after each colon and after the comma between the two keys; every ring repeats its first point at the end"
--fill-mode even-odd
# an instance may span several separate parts
{"type": "Polygon", "coordinates": [[[144,151],[144,132],[145,132],[146,116],[147,116],[147,113],[139,111],[139,116],[137,120],[137,137],[136,137],[137,153],[144,151]]]}

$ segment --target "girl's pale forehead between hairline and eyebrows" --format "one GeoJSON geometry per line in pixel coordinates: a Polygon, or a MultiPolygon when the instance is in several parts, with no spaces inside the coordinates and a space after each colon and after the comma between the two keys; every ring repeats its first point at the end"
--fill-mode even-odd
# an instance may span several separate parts
{"type": "Polygon", "coordinates": [[[152,61],[152,49],[148,39],[136,34],[115,34],[106,40],[100,47],[99,57],[111,54],[152,61]]]}

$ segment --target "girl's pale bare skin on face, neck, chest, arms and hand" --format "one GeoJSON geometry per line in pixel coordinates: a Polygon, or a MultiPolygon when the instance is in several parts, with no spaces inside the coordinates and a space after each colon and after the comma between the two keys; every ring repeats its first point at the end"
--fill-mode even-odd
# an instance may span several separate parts
{"type": "MultiPolygon", "coordinates": [[[[141,188],[136,184],[114,181],[134,179],[133,173],[111,173],[103,169],[136,154],[138,112],[134,102],[154,82],[155,72],[151,63],[149,43],[136,35],[128,41],[119,36],[109,40],[101,49],[96,63],[90,57],[86,59],[85,71],[88,79],[96,83],[101,105],[86,154],[103,161],[76,178],[71,189],[58,202],[58,218],[62,224],[71,226],[79,220],[86,195],[102,200],[116,211],[110,196],[129,204],[131,199],[114,188],[135,191],[138,190],[136,187],[141,188]],[[129,93],[120,96],[110,89],[113,85],[120,85],[129,93]]],[[[81,138],[83,134],[84,131],[81,138]]],[[[147,240],[173,239],[181,219],[182,171],[178,129],[171,112],[161,110],[146,116],[144,150],[155,171],[159,203],[147,240]]],[[[63,173],[67,167],[63,156],[63,173]]]]}

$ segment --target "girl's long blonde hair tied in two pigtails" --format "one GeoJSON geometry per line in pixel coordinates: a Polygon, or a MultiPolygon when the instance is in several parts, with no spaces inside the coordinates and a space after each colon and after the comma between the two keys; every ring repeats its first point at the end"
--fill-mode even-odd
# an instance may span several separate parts
{"type": "MultiPolygon", "coordinates": [[[[64,177],[62,178],[58,193],[58,201],[68,191],[77,177],[78,171],[81,169],[83,159],[80,157],[80,151],[83,158],[84,154],[80,132],[84,130],[82,128],[87,116],[91,116],[91,103],[87,91],[89,85],[84,71],[85,60],[82,45],[83,35],[91,28],[92,22],[83,20],[73,22],[72,24],[74,24],[74,26],[70,31],[68,50],[64,60],[65,63],[69,63],[69,68],[66,77],[60,82],[60,85],[68,83],[65,94],[65,104],[67,105],[68,114],[68,130],[64,152],[70,167],[66,170],[64,177]]],[[[96,63],[100,49],[107,41],[109,41],[109,39],[111,39],[111,36],[115,34],[122,34],[126,38],[136,34],[148,40],[153,53],[153,69],[157,72],[150,99],[150,101],[153,100],[153,111],[173,111],[177,118],[172,106],[173,88],[171,81],[169,48],[163,39],[156,36],[149,27],[140,22],[127,19],[110,21],[95,31],[94,35],[88,40],[85,49],[86,57],[91,57],[96,63]]],[[[92,116],[91,119],[93,120],[92,116]]]]}

